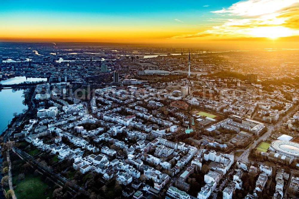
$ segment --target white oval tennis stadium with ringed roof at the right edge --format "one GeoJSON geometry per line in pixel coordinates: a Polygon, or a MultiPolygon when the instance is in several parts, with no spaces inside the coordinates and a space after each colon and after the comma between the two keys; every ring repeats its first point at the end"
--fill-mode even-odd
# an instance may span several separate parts
{"type": "Polygon", "coordinates": [[[299,144],[285,140],[275,140],[270,144],[270,151],[299,159],[299,144]]]}

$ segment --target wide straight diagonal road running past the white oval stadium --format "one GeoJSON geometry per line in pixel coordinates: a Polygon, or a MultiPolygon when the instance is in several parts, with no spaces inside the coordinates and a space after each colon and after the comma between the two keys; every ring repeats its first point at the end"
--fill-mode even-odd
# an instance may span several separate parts
{"type": "MultiPolygon", "coordinates": [[[[299,109],[299,107],[296,107],[294,110],[290,111],[288,114],[286,114],[286,116],[284,116],[283,118],[281,118],[279,120],[279,122],[277,122],[275,125],[268,125],[268,131],[266,133],[264,133],[261,137],[259,137],[257,140],[255,140],[248,147],[249,151],[250,151],[250,149],[256,148],[257,147],[257,143],[260,143],[260,141],[262,141],[266,137],[270,136],[274,132],[274,129],[279,128],[280,125],[283,124],[283,121],[289,119],[292,115],[294,115],[298,111],[298,109],[299,109]]],[[[249,162],[248,161],[249,151],[247,151],[246,149],[244,149],[244,150],[238,150],[238,151],[243,151],[243,153],[237,158],[237,161],[238,160],[242,160],[242,161],[245,161],[245,162],[249,162]]]]}

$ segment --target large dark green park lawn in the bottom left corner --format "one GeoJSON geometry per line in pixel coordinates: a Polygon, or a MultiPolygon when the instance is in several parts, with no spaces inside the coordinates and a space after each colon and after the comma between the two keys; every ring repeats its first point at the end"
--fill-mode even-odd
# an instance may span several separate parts
{"type": "Polygon", "coordinates": [[[48,188],[47,183],[42,181],[41,176],[35,177],[33,174],[25,176],[24,180],[16,182],[14,192],[17,198],[22,199],[39,199],[39,198],[52,198],[53,190],[48,188]]]}

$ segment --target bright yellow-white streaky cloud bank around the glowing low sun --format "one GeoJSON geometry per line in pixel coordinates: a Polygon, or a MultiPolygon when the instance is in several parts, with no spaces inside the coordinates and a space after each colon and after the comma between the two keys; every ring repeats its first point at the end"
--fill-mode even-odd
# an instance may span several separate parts
{"type": "Polygon", "coordinates": [[[168,39],[299,36],[298,0],[239,1],[228,8],[212,11],[212,13],[224,17],[205,20],[211,22],[211,27],[207,30],[194,34],[177,35],[168,39]],[[213,26],[213,22],[221,24],[213,26]]]}

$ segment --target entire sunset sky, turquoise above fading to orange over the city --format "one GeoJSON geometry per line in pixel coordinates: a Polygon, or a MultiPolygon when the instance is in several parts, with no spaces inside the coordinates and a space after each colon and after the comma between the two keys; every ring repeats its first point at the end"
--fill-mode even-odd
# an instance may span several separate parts
{"type": "Polygon", "coordinates": [[[0,40],[298,48],[299,0],[2,1],[0,40]]]}

